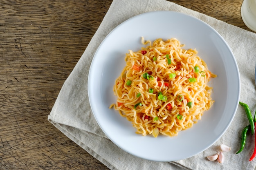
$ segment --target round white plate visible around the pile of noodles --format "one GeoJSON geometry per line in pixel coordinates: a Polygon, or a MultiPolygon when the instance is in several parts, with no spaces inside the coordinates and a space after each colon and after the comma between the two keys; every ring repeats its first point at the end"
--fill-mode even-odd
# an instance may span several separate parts
{"type": "Polygon", "coordinates": [[[201,20],[172,11],[137,15],[117,26],[101,43],[92,60],[88,93],[94,117],[105,134],[126,152],[153,161],[175,161],[192,157],[214,144],[234,118],[240,97],[240,76],[234,55],[225,40],[201,20]],[[177,38],[184,48],[198,55],[218,77],[211,79],[216,102],[202,119],[177,137],[135,134],[130,121],[109,109],[117,97],[115,80],[125,66],[128,50],[138,51],[145,40],[177,38]]]}

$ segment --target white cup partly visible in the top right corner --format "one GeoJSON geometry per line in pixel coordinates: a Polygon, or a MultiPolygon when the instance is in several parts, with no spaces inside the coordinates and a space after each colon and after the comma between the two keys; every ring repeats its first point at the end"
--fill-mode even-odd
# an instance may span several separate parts
{"type": "Polygon", "coordinates": [[[241,16],[245,25],[256,32],[256,0],[244,0],[241,16]]]}

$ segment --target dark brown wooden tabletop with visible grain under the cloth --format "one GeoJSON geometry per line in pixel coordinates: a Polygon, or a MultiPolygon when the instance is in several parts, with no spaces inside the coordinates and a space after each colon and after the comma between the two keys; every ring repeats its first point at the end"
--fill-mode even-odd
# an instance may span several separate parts
{"type": "MultiPolygon", "coordinates": [[[[171,0],[250,31],[243,0],[171,0]]],[[[108,169],[47,121],[112,0],[0,1],[0,169],[108,169]]]]}

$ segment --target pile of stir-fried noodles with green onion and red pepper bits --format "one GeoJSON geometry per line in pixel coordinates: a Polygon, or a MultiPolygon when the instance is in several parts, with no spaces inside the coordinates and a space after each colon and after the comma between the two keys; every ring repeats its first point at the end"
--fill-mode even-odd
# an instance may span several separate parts
{"type": "Polygon", "coordinates": [[[137,52],[129,50],[126,66],[114,85],[119,113],[143,136],[177,136],[191,128],[211,108],[212,74],[193,49],[177,39],[150,41],[137,52]]]}

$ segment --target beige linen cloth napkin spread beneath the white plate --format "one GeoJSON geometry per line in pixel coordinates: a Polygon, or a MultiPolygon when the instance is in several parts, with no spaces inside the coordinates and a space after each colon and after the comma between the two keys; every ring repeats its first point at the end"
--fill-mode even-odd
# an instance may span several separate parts
{"type": "Polygon", "coordinates": [[[236,154],[240,147],[241,131],[248,124],[247,117],[241,106],[238,106],[231,126],[213,146],[191,158],[174,162],[148,161],[130,155],[113,144],[98,126],[90,108],[87,86],[88,71],[95,51],[108,33],[121,22],[141,13],[163,10],[178,11],[192,15],[208,23],[222,35],[231,47],[240,70],[240,101],[247,103],[254,113],[254,110],[256,110],[256,89],[254,84],[256,63],[255,33],[245,31],[165,0],[114,0],[81,59],[63,84],[48,120],[67,137],[112,170],[254,169],[256,159],[248,161],[254,150],[254,136],[248,137],[245,150],[240,154],[236,154]],[[231,152],[224,153],[224,163],[208,161],[206,157],[215,154],[219,150],[220,144],[226,144],[232,148],[231,152]]]}

